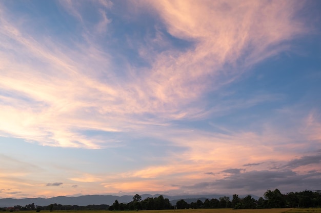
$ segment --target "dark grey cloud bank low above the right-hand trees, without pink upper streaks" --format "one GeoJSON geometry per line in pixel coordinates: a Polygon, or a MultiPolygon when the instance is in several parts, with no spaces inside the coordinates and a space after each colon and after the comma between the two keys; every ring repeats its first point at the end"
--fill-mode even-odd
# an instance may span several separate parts
{"type": "Polygon", "coordinates": [[[300,175],[292,170],[262,170],[250,172],[238,171],[239,173],[237,173],[237,170],[235,170],[234,174],[230,173],[231,175],[223,179],[214,180],[212,182],[200,182],[190,186],[182,186],[182,188],[188,188],[193,191],[202,191],[202,189],[208,190],[213,188],[215,190],[228,190],[232,193],[248,193],[253,191],[264,193],[269,188],[279,188],[282,193],[287,193],[321,188],[320,172],[311,172],[300,175]]]}

